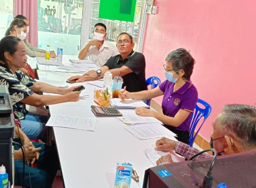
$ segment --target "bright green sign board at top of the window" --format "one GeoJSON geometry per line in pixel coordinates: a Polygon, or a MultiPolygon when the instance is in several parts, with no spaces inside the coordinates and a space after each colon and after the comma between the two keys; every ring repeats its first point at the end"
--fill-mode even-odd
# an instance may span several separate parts
{"type": "Polygon", "coordinates": [[[98,18],[134,21],[136,0],[100,0],[98,18]]]}

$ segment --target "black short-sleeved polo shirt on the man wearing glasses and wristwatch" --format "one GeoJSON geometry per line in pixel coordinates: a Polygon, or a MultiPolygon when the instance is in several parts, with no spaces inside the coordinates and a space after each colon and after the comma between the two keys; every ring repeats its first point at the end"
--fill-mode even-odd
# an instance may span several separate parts
{"type": "Polygon", "coordinates": [[[108,66],[109,69],[127,66],[133,71],[123,76],[123,87],[126,86],[127,91],[136,92],[148,89],[145,79],[146,61],[143,54],[132,51],[124,60],[121,55],[113,56],[104,66],[108,66]]]}

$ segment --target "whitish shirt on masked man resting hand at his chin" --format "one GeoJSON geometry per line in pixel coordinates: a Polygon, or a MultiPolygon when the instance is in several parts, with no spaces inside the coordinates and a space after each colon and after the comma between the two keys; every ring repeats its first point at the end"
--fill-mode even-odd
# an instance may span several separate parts
{"type": "MultiPolygon", "coordinates": [[[[90,40],[88,40],[84,46],[86,46],[89,42],[90,40]]],[[[98,50],[96,46],[90,46],[87,56],[89,56],[89,59],[92,60],[92,62],[94,62],[98,67],[102,67],[110,57],[116,56],[117,54],[119,54],[117,48],[105,40],[100,50],[98,50]]]]}

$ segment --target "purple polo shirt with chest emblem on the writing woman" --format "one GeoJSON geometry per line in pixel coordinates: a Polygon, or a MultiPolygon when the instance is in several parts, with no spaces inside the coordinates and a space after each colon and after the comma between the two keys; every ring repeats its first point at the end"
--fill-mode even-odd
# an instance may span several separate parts
{"type": "Polygon", "coordinates": [[[195,104],[197,103],[197,89],[192,83],[188,81],[179,90],[173,92],[173,87],[175,83],[169,81],[164,81],[160,84],[159,88],[164,92],[164,97],[162,99],[162,111],[164,115],[174,117],[179,109],[184,109],[190,111],[191,113],[187,119],[176,128],[180,131],[188,131],[191,123],[191,115],[195,109],[195,104]]]}

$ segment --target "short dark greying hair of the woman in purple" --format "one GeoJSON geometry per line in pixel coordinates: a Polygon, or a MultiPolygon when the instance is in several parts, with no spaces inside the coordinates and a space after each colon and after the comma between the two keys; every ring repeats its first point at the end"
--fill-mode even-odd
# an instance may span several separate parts
{"type": "MultiPolygon", "coordinates": [[[[179,48],[170,52],[166,56],[165,60],[168,62],[172,62],[172,68],[175,72],[183,69],[183,71],[185,72],[183,78],[186,80],[190,79],[193,73],[195,60],[191,56],[189,51],[187,51],[185,48],[179,48]]],[[[179,72],[177,74],[179,75],[179,72]]]]}

